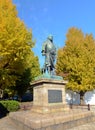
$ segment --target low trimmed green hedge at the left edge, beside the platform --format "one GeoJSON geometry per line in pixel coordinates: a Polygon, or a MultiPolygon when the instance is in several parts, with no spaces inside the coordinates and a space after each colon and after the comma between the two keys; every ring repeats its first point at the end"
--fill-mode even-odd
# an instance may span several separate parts
{"type": "Polygon", "coordinates": [[[0,104],[9,112],[17,111],[19,109],[19,102],[14,100],[0,101],[0,104]]]}

